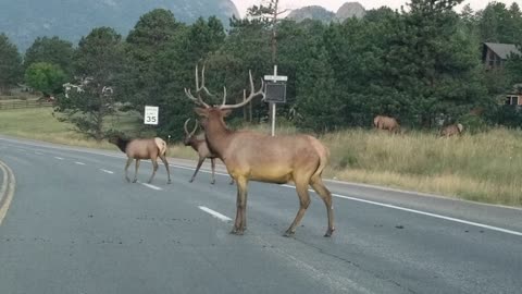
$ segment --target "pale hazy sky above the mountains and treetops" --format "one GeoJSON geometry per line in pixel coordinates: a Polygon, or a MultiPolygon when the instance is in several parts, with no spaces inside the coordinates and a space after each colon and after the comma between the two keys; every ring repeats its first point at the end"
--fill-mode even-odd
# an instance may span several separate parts
{"type": "MultiPolygon", "coordinates": [[[[239,13],[241,13],[241,16],[245,15],[247,8],[253,5],[253,4],[260,4],[265,0],[232,0],[237,9],[239,10],[239,13]]],[[[366,10],[370,9],[375,9],[380,8],[383,5],[389,7],[391,9],[400,9],[401,5],[405,5],[405,3],[409,2],[408,0],[279,0],[281,5],[283,9],[296,9],[296,8],[301,8],[301,7],[308,7],[308,5],[321,5],[326,8],[330,11],[337,11],[340,5],[343,5],[345,2],[359,2],[361,3],[366,10]]],[[[457,10],[460,11],[460,9],[465,5],[465,4],[471,4],[471,8],[476,11],[484,9],[488,2],[493,2],[492,0],[464,0],[462,4],[460,4],[457,10]]],[[[506,3],[506,5],[510,5],[512,2],[518,2],[519,4],[522,5],[522,0],[496,0],[496,2],[502,2],[506,3]]]]}

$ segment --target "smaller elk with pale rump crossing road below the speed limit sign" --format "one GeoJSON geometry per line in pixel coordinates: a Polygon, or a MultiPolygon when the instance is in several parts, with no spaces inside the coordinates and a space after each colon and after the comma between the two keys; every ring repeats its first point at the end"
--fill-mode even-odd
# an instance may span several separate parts
{"type": "Polygon", "coordinates": [[[150,159],[152,161],[152,175],[150,176],[148,183],[152,182],[152,179],[156,175],[156,171],[158,171],[158,157],[163,161],[166,168],[166,174],[169,176],[167,183],[171,183],[171,171],[169,170],[169,162],[166,162],[165,154],[166,154],[166,143],[161,138],[148,138],[148,139],[126,139],[120,136],[113,136],[109,139],[110,143],[114,144],[122,150],[122,152],[127,155],[127,163],[125,164],[125,179],[127,182],[130,182],[127,175],[127,169],[133,160],[136,159],[136,170],[134,173],[133,183],[138,181],[138,168],[139,168],[139,160],[141,159],[150,159]]]}

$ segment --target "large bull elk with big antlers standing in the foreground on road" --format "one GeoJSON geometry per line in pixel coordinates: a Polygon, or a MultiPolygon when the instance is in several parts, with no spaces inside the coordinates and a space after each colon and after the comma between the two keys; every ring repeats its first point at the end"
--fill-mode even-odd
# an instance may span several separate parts
{"type": "Polygon", "coordinates": [[[233,109],[240,108],[257,96],[264,97],[263,82],[256,91],[252,75],[250,77],[250,95],[237,105],[226,105],[226,88],[224,88],[223,103],[209,106],[201,99],[201,91],[209,94],[204,87],[204,68],[202,82],[199,85],[198,68],[196,66],[196,94],[195,98],[189,89],[185,89],[187,97],[195,101],[198,108],[196,113],[201,117],[201,125],[209,149],[216,155],[226,166],[228,174],[237,183],[236,219],[231,233],[241,235],[247,226],[246,207],[249,181],[284,184],[294,182],[299,196],[299,210],[294,222],[286,230],[285,236],[296,232],[296,226],[301,221],[310,205],[308,186],[323,199],[327,212],[327,230],[324,236],[334,232],[334,213],[332,194],[323,184],[322,172],[325,169],[330,151],[316,138],[308,135],[272,137],[250,131],[231,131],[224,122],[233,109]]]}

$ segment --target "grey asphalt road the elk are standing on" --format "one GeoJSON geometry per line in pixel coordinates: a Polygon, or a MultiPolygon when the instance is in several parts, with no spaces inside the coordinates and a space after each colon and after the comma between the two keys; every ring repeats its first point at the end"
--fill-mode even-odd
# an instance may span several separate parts
{"type": "Polygon", "coordinates": [[[16,177],[2,294],[522,292],[520,209],[327,182],[334,236],[312,195],[287,238],[295,189],[252,182],[236,236],[235,186],[203,171],[188,183],[192,162],[170,160],[171,185],[161,164],[152,185],[129,184],[123,154],[2,136],[0,160],[16,177]]]}

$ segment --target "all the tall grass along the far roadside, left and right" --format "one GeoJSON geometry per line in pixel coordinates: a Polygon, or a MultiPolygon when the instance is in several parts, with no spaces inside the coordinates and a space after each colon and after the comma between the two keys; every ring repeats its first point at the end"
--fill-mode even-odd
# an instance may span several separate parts
{"type": "MultiPolygon", "coordinates": [[[[0,134],[74,146],[115,149],[97,144],[58,122],[52,110],[0,111],[0,134]]],[[[138,127],[136,119],[117,119],[117,127],[138,127]]],[[[247,126],[270,132],[268,125],[247,126]]],[[[183,132],[183,125],[178,132],[183,132]]],[[[277,134],[295,134],[277,127],[277,134]]],[[[331,179],[377,184],[469,200],[522,206],[522,132],[493,128],[460,137],[439,138],[434,133],[390,135],[375,130],[346,130],[320,139],[331,150],[325,175],[331,179]]],[[[171,157],[196,159],[190,147],[171,145],[171,157]]]]}

